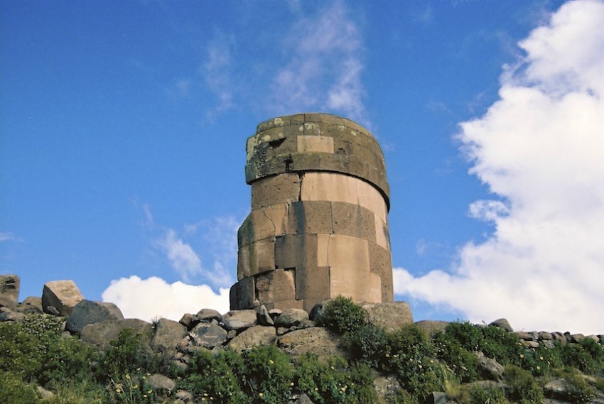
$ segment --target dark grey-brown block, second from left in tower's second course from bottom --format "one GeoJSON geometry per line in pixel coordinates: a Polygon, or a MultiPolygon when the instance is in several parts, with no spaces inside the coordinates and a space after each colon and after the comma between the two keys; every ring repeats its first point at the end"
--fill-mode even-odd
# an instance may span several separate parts
{"type": "Polygon", "coordinates": [[[287,234],[275,239],[276,268],[316,266],[318,236],[316,234],[287,234]]]}

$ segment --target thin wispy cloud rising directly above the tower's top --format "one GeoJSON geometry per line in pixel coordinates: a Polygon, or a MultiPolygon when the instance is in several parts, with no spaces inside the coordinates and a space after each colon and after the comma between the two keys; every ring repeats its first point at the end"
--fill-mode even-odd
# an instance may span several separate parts
{"type": "Polygon", "coordinates": [[[328,109],[358,121],[366,119],[359,21],[342,1],[303,14],[284,45],[286,62],[271,85],[276,94],[272,105],[279,113],[328,109]]]}

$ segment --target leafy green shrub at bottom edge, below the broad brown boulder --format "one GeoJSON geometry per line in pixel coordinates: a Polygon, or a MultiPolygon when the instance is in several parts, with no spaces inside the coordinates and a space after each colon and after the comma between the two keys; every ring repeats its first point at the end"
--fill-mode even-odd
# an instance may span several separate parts
{"type": "Polygon", "coordinates": [[[348,366],[342,358],[327,364],[306,354],[296,361],[296,390],[317,404],[371,404],[375,400],[373,376],[365,364],[348,366]]]}

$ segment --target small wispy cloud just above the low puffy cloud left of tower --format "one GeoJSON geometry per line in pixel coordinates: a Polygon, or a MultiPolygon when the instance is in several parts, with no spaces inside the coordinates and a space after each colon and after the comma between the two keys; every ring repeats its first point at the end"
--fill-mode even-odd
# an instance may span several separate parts
{"type": "Polygon", "coordinates": [[[185,282],[202,273],[199,257],[189,244],[176,236],[173,229],[168,229],[162,239],[156,240],[156,244],[166,253],[171,265],[185,282]]]}

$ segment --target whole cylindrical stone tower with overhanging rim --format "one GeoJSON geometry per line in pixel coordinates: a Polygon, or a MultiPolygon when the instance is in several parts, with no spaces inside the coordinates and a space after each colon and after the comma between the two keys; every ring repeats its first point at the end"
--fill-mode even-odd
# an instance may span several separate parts
{"type": "Polygon", "coordinates": [[[310,311],[338,295],[392,302],[389,187],[372,134],[297,114],[259,124],[246,149],[252,212],[237,235],[231,309],[310,311]]]}

